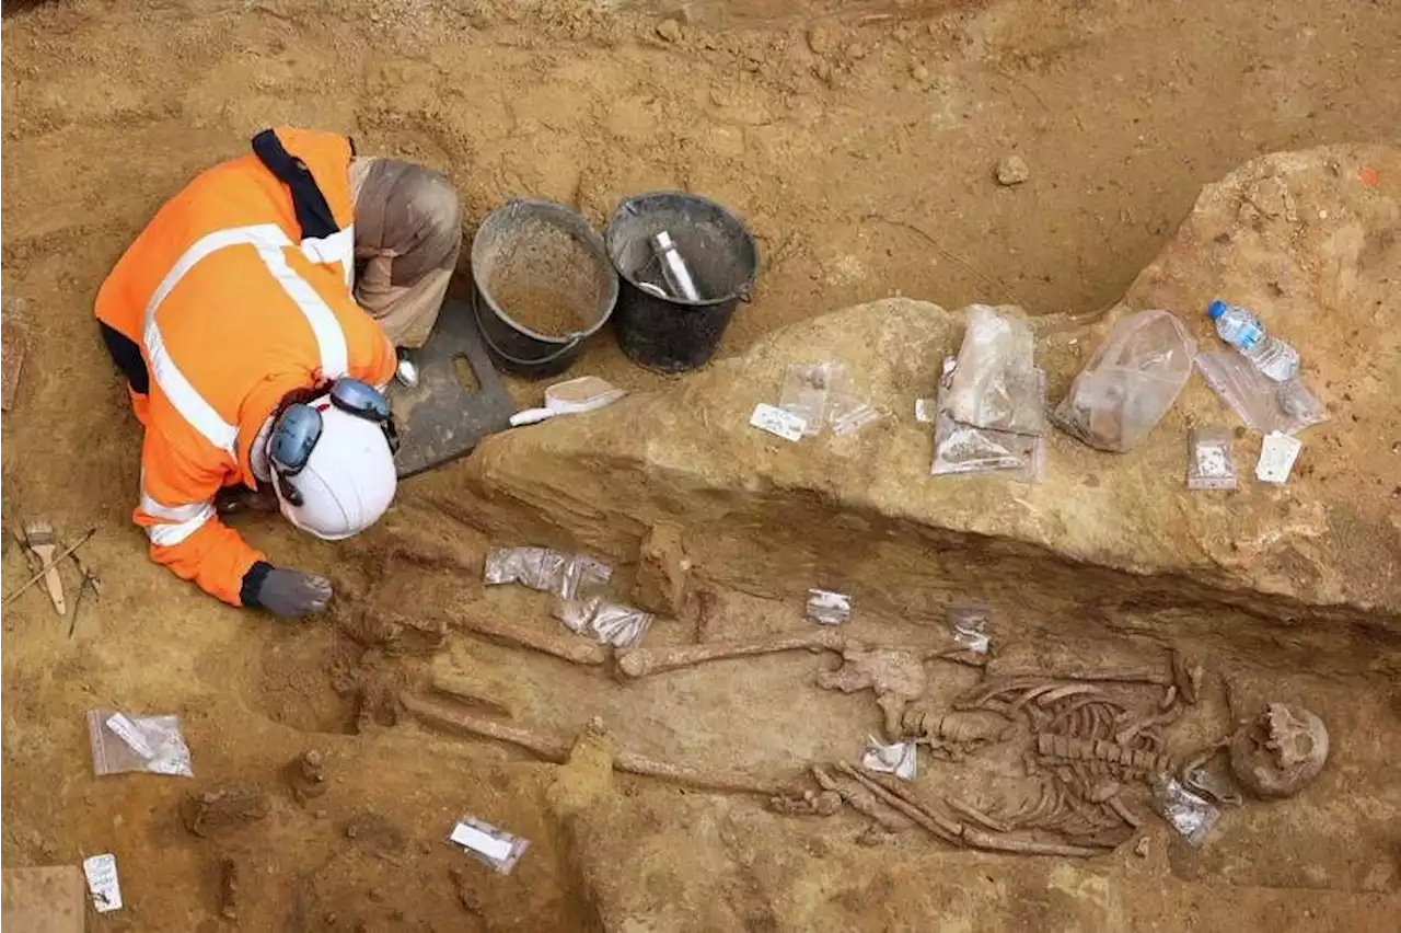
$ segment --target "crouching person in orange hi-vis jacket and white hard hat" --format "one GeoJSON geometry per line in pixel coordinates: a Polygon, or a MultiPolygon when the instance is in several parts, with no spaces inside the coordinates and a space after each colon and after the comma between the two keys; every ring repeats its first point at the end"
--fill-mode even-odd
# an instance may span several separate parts
{"type": "Polygon", "coordinates": [[[220,513],[279,507],[328,541],[384,514],[382,392],[427,339],[461,238],[446,178],[298,129],[259,133],[157,212],[97,297],[146,427],[134,517],[157,563],[233,605],[325,608],[325,579],[273,566],[220,513]]]}

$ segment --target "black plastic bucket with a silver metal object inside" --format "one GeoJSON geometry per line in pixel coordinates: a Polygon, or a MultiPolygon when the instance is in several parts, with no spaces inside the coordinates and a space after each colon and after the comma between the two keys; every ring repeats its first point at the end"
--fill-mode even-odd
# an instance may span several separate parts
{"type": "Polygon", "coordinates": [[[713,200],[653,192],[618,206],[608,221],[607,244],[622,279],[615,322],[623,353],[660,373],[709,363],[734,305],[751,298],[759,272],[759,249],[744,223],[713,200]],[[651,238],[663,231],[671,234],[691,269],[699,301],[657,294],[670,294],[651,247],[651,238]]]}

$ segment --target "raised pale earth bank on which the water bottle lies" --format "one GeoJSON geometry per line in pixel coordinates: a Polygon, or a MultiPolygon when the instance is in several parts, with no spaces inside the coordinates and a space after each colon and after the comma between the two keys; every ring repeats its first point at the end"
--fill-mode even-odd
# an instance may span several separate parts
{"type": "MultiPolygon", "coordinates": [[[[1314,635],[1325,639],[1338,623],[1337,656],[1356,658],[1355,635],[1386,629],[1387,643],[1401,635],[1401,588],[1387,572],[1401,528],[1386,479],[1401,338],[1376,324],[1395,269],[1401,202],[1362,181],[1373,171],[1401,175],[1401,151],[1345,147],[1252,163],[1205,191],[1105,319],[1090,328],[1038,321],[1038,361],[1055,398],[1126,311],[1174,308],[1205,347],[1216,338],[1201,310],[1213,296],[1262,308],[1267,324],[1295,340],[1304,381],[1332,412],[1304,434],[1288,486],[1187,490],[1188,426],[1236,422],[1199,378],[1129,454],[1055,434],[1044,483],[929,478],[930,431],[913,419],[915,399],[933,394],[962,319],[890,300],[776,333],[674,388],[490,438],[458,474],[462,482],[443,478],[427,496],[475,493],[479,524],[517,535],[525,506],[530,534],[563,532],[626,560],[654,523],[679,521],[695,573],[768,597],[857,588],[892,615],[939,618],[950,591],[996,601],[1007,579],[1020,579],[1023,593],[1065,601],[1066,611],[1135,611],[1168,630],[1189,625],[1170,618],[1188,609],[1286,622],[1300,660],[1318,650],[1314,635]],[[1267,189],[1282,205],[1269,214],[1255,207],[1267,189]],[[846,363],[883,412],[878,423],[803,444],[750,427],[755,403],[778,401],[789,366],[828,359],[846,363]],[[504,511],[492,523],[497,506],[504,511]]],[[[1236,443],[1247,475],[1258,444],[1258,434],[1236,443]]],[[[1234,635],[1259,632],[1250,625],[1234,635]]]]}

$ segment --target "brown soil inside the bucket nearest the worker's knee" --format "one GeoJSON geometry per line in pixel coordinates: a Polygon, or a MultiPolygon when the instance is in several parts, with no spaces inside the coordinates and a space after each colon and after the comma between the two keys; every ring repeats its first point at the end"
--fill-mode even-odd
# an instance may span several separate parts
{"type": "Polygon", "coordinates": [[[567,230],[527,219],[502,242],[486,289],[520,326],[563,338],[597,322],[607,284],[586,244],[567,230]]]}

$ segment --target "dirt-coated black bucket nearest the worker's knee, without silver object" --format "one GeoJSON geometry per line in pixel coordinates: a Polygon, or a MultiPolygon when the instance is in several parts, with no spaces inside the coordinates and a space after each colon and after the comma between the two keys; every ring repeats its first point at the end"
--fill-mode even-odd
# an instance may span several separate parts
{"type": "Polygon", "coordinates": [[[618,303],[602,237],[548,200],[510,200],[488,214],[472,238],[472,284],[486,347],[528,378],[567,370],[618,303]]]}

